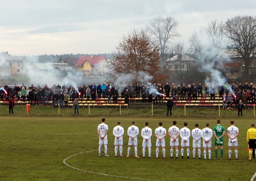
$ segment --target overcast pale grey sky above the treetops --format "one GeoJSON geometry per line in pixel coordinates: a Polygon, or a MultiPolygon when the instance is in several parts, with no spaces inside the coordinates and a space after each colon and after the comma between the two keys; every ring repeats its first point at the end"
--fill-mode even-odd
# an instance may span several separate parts
{"type": "Polygon", "coordinates": [[[133,28],[173,16],[184,41],[211,20],[256,15],[247,0],[0,0],[0,52],[11,55],[111,53],[133,28]]]}

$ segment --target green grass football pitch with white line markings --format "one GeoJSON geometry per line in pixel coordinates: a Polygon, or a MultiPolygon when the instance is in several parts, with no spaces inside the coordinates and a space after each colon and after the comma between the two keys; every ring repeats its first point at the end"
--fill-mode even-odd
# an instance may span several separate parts
{"type": "MultiPolygon", "coordinates": [[[[163,122],[163,127],[168,131],[172,121],[177,121],[179,128],[188,122],[188,128],[194,129],[195,123],[203,129],[205,123],[210,123],[210,128],[217,124],[216,118],[177,118],[177,117],[149,117],[149,116],[27,116],[27,115],[2,115],[0,126],[0,172],[1,180],[250,180],[256,169],[255,160],[248,161],[246,132],[253,118],[234,118],[235,126],[239,129],[238,157],[232,150],[232,159],[228,160],[228,137],[224,137],[224,158],[214,160],[212,147],[212,160],[170,158],[170,138],[166,136],[166,156],[162,158],[162,149],[159,150],[159,159],[156,156],[156,137],[154,131],[158,122],[163,122]],[[108,155],[104,157],[102,146],[101,157],[98,157],[97,127],[101,118],[106,118],[108,124],[108,155]],[[152,158],[142,158],[142,137],[138,136],[139,159],[134,158],[134,147],[131,149],[130,158],[127,154],[128,136],[127,129],[132,121],[140,131],[145,122],[153,130],[152,158]],[[112,134],[116,122],[121,121],[124,127],[124,158],[114,155],[114,136],[112,134]],[[79,154],[78,154],[79,153],[79,154]],[[69,166],[67,166],[66,164],[69,166]]],[[[220,118],[225,130],[230,126],[231,118],[220,118]]],[[[180,140],[180,138],[179,138],[180,140]]],[[[214,140],[212,139],[212,142],[214,140]]],[[[192,153],[192,137],[190,137],[190,157],[192,153]]],[[[175,152],[175,150],[174,150],[175,152]]],[[[203,148],[201,149],[203,156],[203,148]]],[[[119,156],[119,149],[118,149],[119,156]]],[[[208,158],[208,152],[207,152],[208,158]]]]}

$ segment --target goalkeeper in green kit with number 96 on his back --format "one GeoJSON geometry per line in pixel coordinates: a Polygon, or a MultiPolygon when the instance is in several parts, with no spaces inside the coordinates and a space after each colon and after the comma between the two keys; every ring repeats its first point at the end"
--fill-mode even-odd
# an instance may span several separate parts
{"type": "Polygon", "coordinates": [[[214,145],[215,145],[215,160],[217,160],[218,155],[218,146],[220,146],[220,155],[221,160],[224,160],[223,158],[223,137],[225,135],[225,128],[220,125],[220,120],[217,120],[218,125],[215,126],[212,130],[213,135],[215,136],[214,139],[214,145]]]}

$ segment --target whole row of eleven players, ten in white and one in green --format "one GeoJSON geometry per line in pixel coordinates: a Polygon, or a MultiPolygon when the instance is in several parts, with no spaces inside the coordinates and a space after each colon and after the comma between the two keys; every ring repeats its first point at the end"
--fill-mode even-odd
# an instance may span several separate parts
{"type": "MultiPolygon", "coordinates": [[[[204,159],[206,159],[206,153],[208,148],[208,155],[209,159],[211,160],[211,147],[212,147],[212,135],[214,135],[214,146],[215,146],[215,160],[217,159],[218,155],[218,146],[220,146],[220,153],[221,153],[221,160],[223,160],[223,137],[225,135],[225,128],[220,125],[220,120],[217,120],[218,125],[212,129],[209,128],[209,123],[206,123],[206,127],[203,130],[198,128],[198,124],[195,124],[195,129],[190,132],[187,128],[188,123],[184,122],[184,128],[179,129],[176,126],[176,121],[173,121],[173,126],[169,128],[169,136],[171,138],[170,146],[171,146],[171,158],[173,158],[173,148],[175,147],[176,158],[178,158],[178,146],[179,146],[179,137],[181,138],[181,158],[184,158],[184,148],[187,148],[187,158],[189,159],[189,138],[192,133],[193,138],[193,158],[195,159],[196,149],[198,149],[198,158],[201,159],[201,138],[203,139],[203,147],[204,147],[204,159]]],[[[235,148],[235,156],[236,160],[238,160],[238,141],[237,136],[239,134],[239,130],[236,126],[234,126],[234,121],[230,121],[231,126],[227,130],[227,135],[229,138],[228,146],[229,146],[229,159],[231,159],[232,147],[235,148]]],[[[152,129],[148,127],[148,122],[145,123],[145,128],[141,130],[141,136],[143,138],[143,158],[145,158],[145,150],[148,147],[148,156],[151,158],[151,136],[152,136],[152,129]]],[[[105,146],[105,156],[107,154],[107,133],[108,133],[108,125],[105,124],[105,119],[102,119],[102,123],[98,126],[98,135],[99,135],[99,156],[101,153],[101,146],[104,144],[105,146]]],[[[129,143],[128,143],[128,151],[127,151],[127,158],[129,158],[129,154],[131,151],[131,146],[134,146],[135,151],[135,158],[139,158],[137,153],[137,136],[139,135],[139,128],[135,126],[135,122],[132,122],[132,126],[128,128],[127,134],[129,136],[129,143]]],[[[113,135],[115,136],[115,157],[117,157],[117,151],[119,146],[120,157],[123,157],[123,135],[124,135],[124,128],[121,127],[121,122],[117,122],[117,126],[113,130],[113,135]]],[[[158,158],[159,147],[162,147],[163,151],[163,158],[165,156],[165,136],[166,136],[166,129],[163,128],[163,123],[159,122],[159,127],[155,130],[156,136],[156,158],[158,158]]]]}

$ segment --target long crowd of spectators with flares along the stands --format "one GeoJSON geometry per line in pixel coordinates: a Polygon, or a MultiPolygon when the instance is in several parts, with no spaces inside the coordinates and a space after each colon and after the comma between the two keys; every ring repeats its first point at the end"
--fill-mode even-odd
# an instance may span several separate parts
{"type": "Polygon", "coordinates": [[[163,98],[172,97],[173,100],[197,100],[198,97],[210,97],[211,100],[215,100],[215,96],[218,95],[219,99],[223,101],[223,109],[235,104],[238,105],[239,100],[242,100],[245,108],[248,103],[255,104],[255,87],[251,83],[248,85],[246,82],[244,85],[239,83],[236,85],[233,83],[229,85],[220,84],[209,86],[206,84],[203,88],[202,84],[195,83],[185,85],[182,84],[176,86],[174,83],[169,85],[166,83],[162,86],[160,83],[140,84],[130,83],[118,85],[110,83],[102,83],[95,85],[63,85],[53,84],[51,87],[45,84],[40,86],[39,84],[29,85],[26,87],[22,84],[20,87],[15,85],[11,88],[6,83],[4,87],[0,85],[1,101],[9,101],[9,98],[17,98],[18,101],[28,101],[31,105],[49,105],[49,101],[53,102],[53,107],[61,108],[68,106],[68,101],[72,101],[77,98],[78,100],[96,100],[96,98],[108,98],[108,104],[117,103],[117,98],[121,97],[125,99],[125,103],[129,102],[130,98],[142,98],[143,102],[154,102],[156,104],[162,104],[163,98]],[[218,93],[218,94],[216,94],[218,93]]]}

